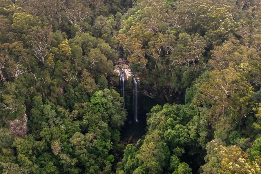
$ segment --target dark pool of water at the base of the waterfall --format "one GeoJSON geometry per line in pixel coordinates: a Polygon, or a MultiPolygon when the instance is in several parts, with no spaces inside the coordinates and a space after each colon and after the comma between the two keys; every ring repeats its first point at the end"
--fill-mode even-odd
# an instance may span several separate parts
{"type": "Polygon", "coordinates": [[[135,119],[125,122],[121,131],[121,140],[127,142],[128,138],[132,137],[131,144],[135,145],[136,142],[146,134],[146,126],[145,117],[139,118],[138,116],[138,122],[136,122],[135,119]]]}

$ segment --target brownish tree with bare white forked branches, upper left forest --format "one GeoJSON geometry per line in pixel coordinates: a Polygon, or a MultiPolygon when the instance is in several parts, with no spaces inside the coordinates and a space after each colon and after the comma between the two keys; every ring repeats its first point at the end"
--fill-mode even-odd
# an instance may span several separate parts
{"type": "Polygon", "coordinates": [[[34,55],[44,64],[44,59],[52,49],[50,45],[52,40],[51,30],[38,28],[32,30],[30,34],[34,39],[32,41],[32,50],[35,52],[34,55]]]}

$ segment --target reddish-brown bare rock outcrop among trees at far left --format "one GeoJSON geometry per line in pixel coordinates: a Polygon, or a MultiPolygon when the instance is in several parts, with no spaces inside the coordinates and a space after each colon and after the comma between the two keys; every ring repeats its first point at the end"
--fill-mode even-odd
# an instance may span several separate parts
{"type": "Polygon", "coordinates": [[[9,122],[10,132],[18,137],[24,137],[29,133],[27,128],[27,115],[24,114],[22,119],[15,119],[14,121],[9,122]]]}

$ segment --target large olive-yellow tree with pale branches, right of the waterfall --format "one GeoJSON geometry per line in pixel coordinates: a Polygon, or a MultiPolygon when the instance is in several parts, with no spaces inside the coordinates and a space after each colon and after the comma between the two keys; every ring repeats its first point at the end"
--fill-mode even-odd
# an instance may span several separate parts
{"type": "Polygon", "coordinates": [[[233,98],[238,91],[245,91],[244,96],[240,97],[240,105],[249,101],[249,96],[253,94],[253,87],[250,86],[245,78],[229,67],[224,70],[214,70],[209,74],[209,81],[203,82],[200,87],[200,103],[212,104],[213,120],[218,119],[221,114],[225,114],[226,108],[233,113],[238,110],[233,103],[233,98]],[[230,97],[230,98],[229,98],[230,97]]]}

